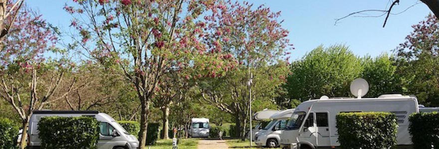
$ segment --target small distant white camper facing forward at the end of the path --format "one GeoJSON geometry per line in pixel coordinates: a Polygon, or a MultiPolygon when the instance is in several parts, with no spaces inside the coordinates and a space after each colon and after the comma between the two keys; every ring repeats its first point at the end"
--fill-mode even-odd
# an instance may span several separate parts
{"type": "Polygon", "coordinates": [[[191,127],[189,128],[189,136],[197,138],[209,137],[209,119],[207,118],[193,118],[191,127]]]}

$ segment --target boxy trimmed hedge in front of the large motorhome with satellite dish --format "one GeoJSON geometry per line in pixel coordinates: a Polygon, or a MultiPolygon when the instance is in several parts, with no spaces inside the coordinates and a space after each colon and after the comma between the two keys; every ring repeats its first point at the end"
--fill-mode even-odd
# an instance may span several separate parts
{"type": "Polygon", "coordinates": [[[342,149],[392,149],[397,145],[398,124],[392,113],[340,113],[336,120],[342,149]]]}

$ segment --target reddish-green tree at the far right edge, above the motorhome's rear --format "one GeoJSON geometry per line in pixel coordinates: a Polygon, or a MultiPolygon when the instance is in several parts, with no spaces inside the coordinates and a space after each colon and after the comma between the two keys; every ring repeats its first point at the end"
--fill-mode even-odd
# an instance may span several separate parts
{"type": "Polygon", "coordinates": [[[413,25],[406,42],[395,50],[397,73],[410,94],[426,106],[439,106],[439,21],[433,15],[413,25]]]}

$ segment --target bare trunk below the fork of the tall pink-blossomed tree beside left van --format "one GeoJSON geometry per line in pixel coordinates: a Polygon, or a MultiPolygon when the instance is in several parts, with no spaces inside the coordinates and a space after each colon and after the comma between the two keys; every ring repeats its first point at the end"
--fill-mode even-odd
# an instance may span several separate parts
{"type": "Polygon", "coordinates": [[[146,149],[146,133],[148,130],[148,114],[150,101],[146,99],[141,100],[142,110],[140,113],[140,131],[139,131],[139,149],[146,149]]]}

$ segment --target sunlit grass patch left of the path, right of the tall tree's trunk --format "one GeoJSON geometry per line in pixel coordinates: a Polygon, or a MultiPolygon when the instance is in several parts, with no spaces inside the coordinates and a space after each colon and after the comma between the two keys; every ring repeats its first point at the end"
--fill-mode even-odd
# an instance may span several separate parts
{"type": "MultiPolygon", "coordinates": [[[[197,149],[198,139],[180,139],[179,149],[197,149]]],[[[172,139],[158,140],[151,149],[172,149],[172,139]]]]}

